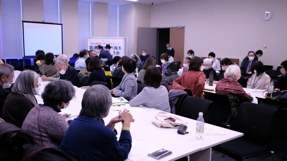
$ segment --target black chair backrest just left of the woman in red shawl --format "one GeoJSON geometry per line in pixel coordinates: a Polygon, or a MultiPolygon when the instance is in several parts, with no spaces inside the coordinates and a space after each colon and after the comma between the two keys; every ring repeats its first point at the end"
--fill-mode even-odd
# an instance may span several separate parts
{"type": "Polygon", "coordinates": [[[213,102],[213,106],[207,109],[207,122],[223,127],[229,125],[231,120],[231,107],[228,96],[204,92],[204,98],[213,102]]]}

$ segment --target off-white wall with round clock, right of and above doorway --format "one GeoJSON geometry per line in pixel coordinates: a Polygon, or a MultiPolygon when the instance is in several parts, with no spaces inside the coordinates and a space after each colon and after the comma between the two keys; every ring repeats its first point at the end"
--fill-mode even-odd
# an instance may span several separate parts
{"type": "Polygon", "coordinates": [[[286,7],[285,0],[184,0],[151,6],[151,27],[185,26],[185,56],[189,49],[197,56],[213,51],[241,62],[261,49],[259,60],[276,69],[287,59],[286,7]],[[262,19],[266,10],[273,13],[269,21],[262,19]]]}

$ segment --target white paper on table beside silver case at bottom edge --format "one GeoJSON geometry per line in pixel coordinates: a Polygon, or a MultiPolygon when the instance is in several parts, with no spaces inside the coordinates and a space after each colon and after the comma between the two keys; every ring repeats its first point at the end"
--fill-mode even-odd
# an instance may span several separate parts
{"type": "Polygon", "coordinates": [[[147,154],[160,150],[161,148],[148,144],[146,142],[133,139],[132,149],[128,154],[128,159],[132,161],[140,160],[147,156],[147,154]]]}

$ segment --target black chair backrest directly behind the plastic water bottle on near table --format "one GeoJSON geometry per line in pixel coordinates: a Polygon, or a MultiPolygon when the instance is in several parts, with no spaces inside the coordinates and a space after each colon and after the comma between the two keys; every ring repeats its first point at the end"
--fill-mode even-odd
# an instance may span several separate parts
{"type": "Polygon", "coordinates": [[[203,113],[203,117],[206,115],[206,110],[210,106],[212,101],[202,99],[198,97],[188,96],[184,99],[180,108],[179,115],[197,120],[199,112],[203,113]]]}

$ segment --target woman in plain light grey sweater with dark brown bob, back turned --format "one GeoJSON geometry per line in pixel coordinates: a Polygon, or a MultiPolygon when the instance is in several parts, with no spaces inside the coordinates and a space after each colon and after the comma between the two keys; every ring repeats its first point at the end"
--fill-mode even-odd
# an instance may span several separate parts
{"type": "Polygon", "coordinates": [[[144,87],[142,92],[130,101],[130,106],[143,105],[170,113],[167,88],[160,84],[161,79],[161,72],[156,66],[148,67],[144,74],[144,84],[147,87],[144,87]]]}

